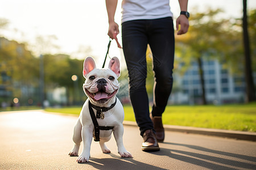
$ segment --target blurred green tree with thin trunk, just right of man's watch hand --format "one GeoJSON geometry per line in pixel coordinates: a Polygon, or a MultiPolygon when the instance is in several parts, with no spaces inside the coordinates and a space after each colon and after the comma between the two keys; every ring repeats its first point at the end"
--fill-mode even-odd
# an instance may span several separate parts
{"type": "Polygon", "coordinates": [[[222,44],[226,31],[225,25],[228,20],[217,20],[220,9],[208,9],[207,12],[195,12],[189,18],[190,27],[188,33],[182,36],[176,36],[177,54],[182,57],[182,61],[190,65],[196,61],[199,66],[199,76],[201,83],[201,99],[203,104],[207,104],[204,83],[203,57],[222,56],[222,44]],[[219,53],[219,55],[216,55],[219,53]]]}

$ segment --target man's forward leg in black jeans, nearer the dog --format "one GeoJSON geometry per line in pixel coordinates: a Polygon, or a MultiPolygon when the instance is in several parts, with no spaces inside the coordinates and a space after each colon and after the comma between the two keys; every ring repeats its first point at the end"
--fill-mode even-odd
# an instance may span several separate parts
{"type": "Polygon", "coordinates": [[[144,131],[154,129],[149,116],[146,91],[148,38],[145,24],[145,20],[133,20],[122,24],[123,53],[129,71],[130,99],[142,136],[144,131]]]}

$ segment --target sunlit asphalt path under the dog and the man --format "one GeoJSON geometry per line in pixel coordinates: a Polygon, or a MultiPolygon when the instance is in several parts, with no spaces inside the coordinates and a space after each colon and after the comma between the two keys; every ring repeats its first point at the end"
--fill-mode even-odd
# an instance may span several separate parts
{"type": "Polygon", "coordinates": [[[120,158],[112,137],[111,154],[93,141],[90,162],[79,164],[68,156],[76,120],[43,111],[0,112],[0,169],[256,169],[256,142],[166,131],[160,151],[143,152],[133,126],[123,135],[133,158],[120,158]]]}

